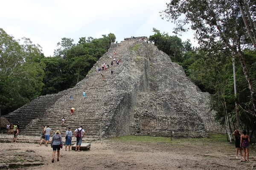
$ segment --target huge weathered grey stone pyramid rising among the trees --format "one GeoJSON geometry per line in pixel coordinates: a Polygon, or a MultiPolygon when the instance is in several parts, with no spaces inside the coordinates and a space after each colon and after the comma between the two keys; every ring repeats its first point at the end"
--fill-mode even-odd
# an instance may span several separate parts
{"type": "Polygon", "coordinates": [[[209,94],[200,92],[167,54],[138,40],[111,44],[74,88],[40,96],[4,117],[20,122],[22,135],[39,136],[42,125],[49,125],[65,136],[67,127],[74,131],[83,125],[89,140],[130,134],[170,136],[171,131],[174,136],[200,137],[219,128],[209,109],[209,94]],[[110,68],[102,71],[103,80],[95,68],[104,62],[110,65],[110,53],[122,63],[119,67],[113,63],[113,75],[110,68]],[[70,116],[72,107],[76,112],[70,116]]]}

